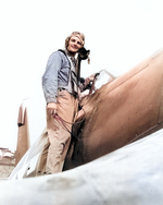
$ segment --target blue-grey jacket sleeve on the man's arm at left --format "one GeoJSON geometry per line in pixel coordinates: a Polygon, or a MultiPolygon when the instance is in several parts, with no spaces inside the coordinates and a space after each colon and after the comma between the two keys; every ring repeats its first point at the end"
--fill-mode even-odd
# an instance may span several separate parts
{"type": "Polygon", "coordinates": [[[62,67],[62,59],[59,52],[53,52],[47,62],[46,72],[42,76],[42,89],[48,102],[57,102],[58,74],[62,67]]]}

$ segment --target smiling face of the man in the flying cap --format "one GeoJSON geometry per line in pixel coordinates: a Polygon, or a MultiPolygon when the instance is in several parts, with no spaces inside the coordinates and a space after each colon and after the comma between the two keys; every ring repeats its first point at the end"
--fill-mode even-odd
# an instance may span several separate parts
{"type": "Polygon", "coordinates": [[[82,41],[78,37],[72,36],[67,46],[67,50],[70,52],[77,52],[78,49],[82,48],[82,41]]]}

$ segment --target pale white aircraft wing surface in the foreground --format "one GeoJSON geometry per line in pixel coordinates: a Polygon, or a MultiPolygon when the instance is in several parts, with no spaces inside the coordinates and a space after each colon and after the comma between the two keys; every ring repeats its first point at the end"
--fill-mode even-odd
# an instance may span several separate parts
{"type": "Polygon", "coordinates": [[[87,165],[1,181],[4,205],[162,205],[163,130],[87,165]]]}

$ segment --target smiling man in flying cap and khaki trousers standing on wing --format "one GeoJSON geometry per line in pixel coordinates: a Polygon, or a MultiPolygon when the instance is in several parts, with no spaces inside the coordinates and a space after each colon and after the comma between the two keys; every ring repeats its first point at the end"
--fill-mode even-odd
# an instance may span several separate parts
{"type": "MultiPolygon", "coordinates": [[[[71,143],[72,124],[78,110],[77,67],[75,56],[84,47],[85,36],[74,32],[65,39],[65,50],[53,52],[42,76],[47,101],[46,154],[39,162],[39,172],[61,172],[71,143]]],[[[40,174],[41,174],[40,173],[40,174]]]]}

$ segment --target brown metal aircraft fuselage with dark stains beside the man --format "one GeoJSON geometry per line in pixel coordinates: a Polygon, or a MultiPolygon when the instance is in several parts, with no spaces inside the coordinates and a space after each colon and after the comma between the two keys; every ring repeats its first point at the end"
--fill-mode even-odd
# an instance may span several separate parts
{"type": "Polygon", "coordinates": [[[86,120],[75,132],[65,170],[111,153],[163,121],[163,51],[103,85],[84,109],[86,120]]]}

